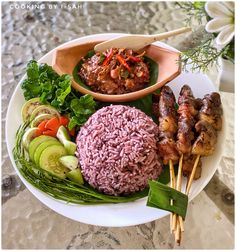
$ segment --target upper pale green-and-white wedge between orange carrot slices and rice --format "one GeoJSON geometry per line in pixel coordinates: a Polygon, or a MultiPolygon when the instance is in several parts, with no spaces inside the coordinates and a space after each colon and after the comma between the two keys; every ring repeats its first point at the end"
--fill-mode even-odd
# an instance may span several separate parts
{"type": "Polygon", "coordinates": [[[60,126],[57,131],[57,138],[66,148],[69,155],[74,155],[76,151],[76,144],[70,141],[70,135],[64,126],[60,126]]]}

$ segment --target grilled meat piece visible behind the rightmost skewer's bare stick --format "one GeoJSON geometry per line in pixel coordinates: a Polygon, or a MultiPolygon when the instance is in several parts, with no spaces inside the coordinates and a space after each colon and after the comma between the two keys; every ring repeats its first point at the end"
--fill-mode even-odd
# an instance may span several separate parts
{"type": "MultiPolygon", "coordinates": [[[[195,155],[185,155],[184,156],[184,160],[183,160],[183,175],[186,177],[189,177],[189,175],[192,172],[193,166],[194,166],[194,162],[196,160],[196,156],[195,155]]],[[[198,165],[197,165],[197,169],[194,175],[194,179],[197,180],[201,177],[201,172],[202,172],[202,162],[201,160],[199,160],[198,165]]]]}

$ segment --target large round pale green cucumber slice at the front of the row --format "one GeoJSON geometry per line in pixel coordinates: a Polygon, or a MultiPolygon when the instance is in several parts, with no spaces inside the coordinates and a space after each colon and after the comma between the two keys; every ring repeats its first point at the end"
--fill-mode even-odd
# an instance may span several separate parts
{"type": "Polygon", "coordinates": [[[59,158],[64,155],[66,155],[66,149],[62,145],[51,145],[42,152],[39,166],[64,179],[66,178],[66,173],[69,171],[59,162],[59,158]]]}

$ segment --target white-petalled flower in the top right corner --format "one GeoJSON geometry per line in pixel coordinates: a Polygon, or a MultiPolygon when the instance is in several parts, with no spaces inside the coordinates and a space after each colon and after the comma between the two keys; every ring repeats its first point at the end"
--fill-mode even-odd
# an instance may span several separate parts
{"type": "Polygon", "coordinates": [[[234,37],[234,2],[207,2],[205,10],[213,18],[206,24],[206,31],[219,33],[216,44],[225,47],[234,37]]]}

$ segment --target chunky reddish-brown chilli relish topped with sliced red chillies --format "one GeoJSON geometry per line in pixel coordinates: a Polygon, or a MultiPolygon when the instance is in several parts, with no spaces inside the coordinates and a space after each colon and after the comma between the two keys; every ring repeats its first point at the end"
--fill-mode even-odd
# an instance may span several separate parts
{"type": "Polygon", "coordinates": [[[82,59],[79,77],[91,90],[103,94],[124,94],[147,87],[150,67],[141,54],[131,49],[110,48],[82,59]]]}

